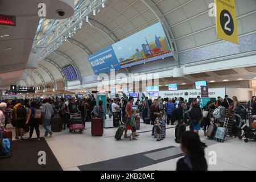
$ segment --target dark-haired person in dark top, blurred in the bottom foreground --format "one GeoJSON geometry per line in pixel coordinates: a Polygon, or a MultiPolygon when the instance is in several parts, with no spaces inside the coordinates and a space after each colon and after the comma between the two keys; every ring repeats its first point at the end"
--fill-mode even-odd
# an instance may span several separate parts
{"type": "Polygon", "coordinates": [[[207,146],[201,142],[198,134],[185,131],[180,139],[180,148],[185,157],[178,160],[176,171],[207,171],[205,147],[207,146]]]}

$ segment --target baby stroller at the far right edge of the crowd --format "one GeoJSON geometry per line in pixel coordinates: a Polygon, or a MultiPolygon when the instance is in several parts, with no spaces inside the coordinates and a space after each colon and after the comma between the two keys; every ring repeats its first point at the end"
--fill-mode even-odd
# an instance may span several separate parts
{"type": "MultiPolygon", "coordinates": [[[[245,141],[245,143],[247,143],[249,141],[249,139],[254,139],[256,140],[256,130],[255,129],[250,129],[250,127],[248,127],[246,125],[246,122],[243,121],[242,117],[238,114],[234,114],[236,119],[239,119],[239,125],[237,126],[238,128],[241,128],[243,130],[243,134],[239,137],[239,139],[244,138],[243,140],[245,141]]],[[[238,121],[236,121],[236,123],[238,123],[238,121]]]]}

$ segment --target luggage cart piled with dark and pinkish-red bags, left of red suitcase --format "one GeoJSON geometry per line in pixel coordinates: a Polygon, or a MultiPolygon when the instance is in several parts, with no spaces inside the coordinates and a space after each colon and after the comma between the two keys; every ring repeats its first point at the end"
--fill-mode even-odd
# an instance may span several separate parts
{"type": "Polygon", "coordinates": [[[84,123],[82,122],[82,118],[80,114],[70,114],[70,123],[69,123],[69,132],[72,133],[72,131],[79,130],[79,133],[81,134],[82,131],[84,131],[84,123]]]}

